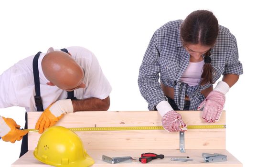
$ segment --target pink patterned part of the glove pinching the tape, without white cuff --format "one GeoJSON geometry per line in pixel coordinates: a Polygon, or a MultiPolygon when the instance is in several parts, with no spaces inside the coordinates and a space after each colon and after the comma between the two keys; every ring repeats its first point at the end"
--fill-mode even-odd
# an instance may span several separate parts
{"type": "Polygon", "coordinates": [[[169,132],[185,132],[186,124],[182,121],[181,115],[176,111],[172,110],[163,115],[162,126],[169,132]]]}

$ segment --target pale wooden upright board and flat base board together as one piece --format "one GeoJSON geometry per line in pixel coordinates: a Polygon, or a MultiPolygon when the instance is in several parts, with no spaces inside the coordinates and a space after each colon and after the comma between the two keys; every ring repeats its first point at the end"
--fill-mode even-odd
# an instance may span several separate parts
{"type": "MultiPolygon", "coordinates": [[[[178,111],[187,125],[225,125],[225,112],[219,122],[207,124],[202,111],[178,111]]],[[[28,127],[34,128],[41,112],[28,113],[28,127]]],[[[76,112],[64,115],[56,124],[64,127],[114,127],[114,126],[160,126],[161,117],[156,111],[98,111],[76,112]]],[[[185,132],[186,153],[179,151],[179,133],[165,130],[128,131],[80,131],[75,132],[83,141],[87,153],[95,160],[92,167],[242,167],[242,164],[225,150],[225,129],[189,129],[185,132]],[[153,152],[165,156],[189,156],[190,162],[171,161],[170,158],[155,159],[147,164],[134,160],[130,163],[108,164],[108,157],[140,157],[153,152]],[[228,161],[203,163],[202,153],[227,155],[228,161]]],[[[51,167],[33,157],[40,134],[29,133],[29,152],[15,161],[11,167],[51,167]]]]}

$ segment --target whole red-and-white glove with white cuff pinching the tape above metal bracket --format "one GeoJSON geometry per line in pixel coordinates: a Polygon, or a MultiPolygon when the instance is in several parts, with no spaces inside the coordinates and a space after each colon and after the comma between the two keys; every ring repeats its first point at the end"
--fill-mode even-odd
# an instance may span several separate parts
{"type": "Polygon", "coordinates": [[[162,116],[162,126],[168,132],[185,132],[186,124],[182,121],[181,115],[174,111],[167,101],[161,101],[156,106],[162,116]]]}

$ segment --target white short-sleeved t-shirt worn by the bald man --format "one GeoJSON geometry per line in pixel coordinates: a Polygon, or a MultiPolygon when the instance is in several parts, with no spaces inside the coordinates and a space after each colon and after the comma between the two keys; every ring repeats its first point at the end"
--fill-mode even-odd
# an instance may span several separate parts
{"type": "MultiPolygon", "coordinates": [[[[77,99],[96,97],[105,99],[112,88],[103,74],[96,56],[83,47],[67,47],[75,61],[85,70],[85,88],[76,89],[74,96],[77,99]]],[[[46,53],[41,53],[38,60],[40,90],[43,109],[57,100],[66,99],[67,92],[57,86],[47,85],[49,81],[42,71],[42,60],[46,53]]],[[[35,88],[33,77],[34,55],[27,57],[0,75],[0,108],[10,106],[25,107],[26,111],[37,111],[34,101],[35,88]]]]}

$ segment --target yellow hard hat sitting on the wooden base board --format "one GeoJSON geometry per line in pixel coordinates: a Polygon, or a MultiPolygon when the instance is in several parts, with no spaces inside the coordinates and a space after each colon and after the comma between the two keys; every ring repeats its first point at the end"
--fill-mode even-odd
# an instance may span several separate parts
{"type": "Polygon", "coordinates": [[[89,167],[94,164],[80,137],[63,126],[52,126],[43,132],[34,157],[55,167],[89,167]]]}

